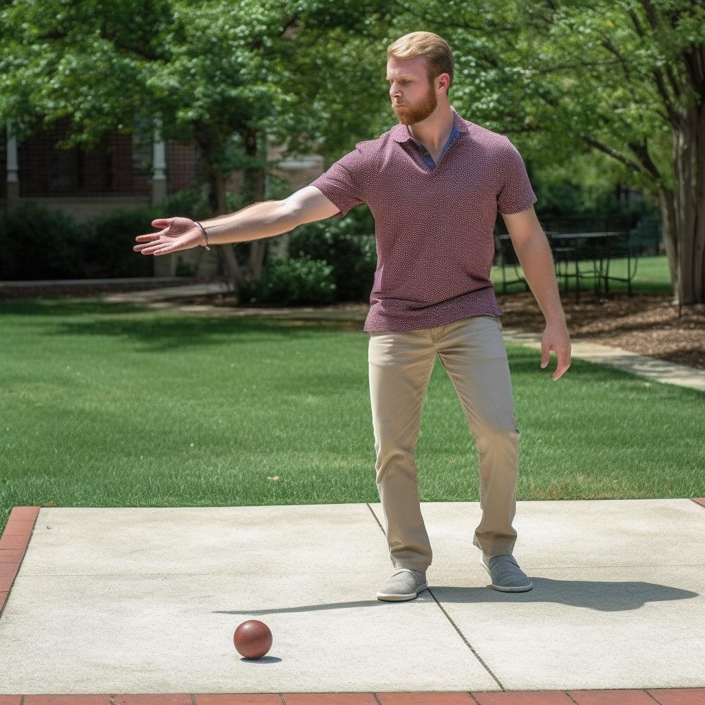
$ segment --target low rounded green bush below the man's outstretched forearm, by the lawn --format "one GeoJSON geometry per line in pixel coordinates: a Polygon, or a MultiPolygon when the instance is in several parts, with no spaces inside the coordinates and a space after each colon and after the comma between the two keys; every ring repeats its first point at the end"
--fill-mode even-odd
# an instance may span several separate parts
{"type": "Polygon", "coordinates": [[[237,295],[244,305],[330,304],[336,299],[333,267],[309,257],[273,257],[264,267],[259,281],[241,286],[237,295]]]}

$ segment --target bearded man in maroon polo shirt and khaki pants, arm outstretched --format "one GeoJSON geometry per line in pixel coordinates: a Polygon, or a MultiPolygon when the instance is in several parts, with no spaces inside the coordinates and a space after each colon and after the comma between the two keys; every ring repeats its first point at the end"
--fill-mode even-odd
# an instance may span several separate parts
{"type": "Polygon", "coordinates": [[[412,32],[387,50],[387,80],[399,124],[358,142],[310,185],[281,202],[257,203],[198,225],[159,219],[136,252],[164,255],[196,245],[245,242],[302,223],[343,217],[366,203],[378,264],[370,309],[369,389],[376,484],[396,569],[386,601],[427,589],[431,546],[419,504],[415,447],[427,384],[441,358],[479,453],[482,520],[473,544],[501,591],[531,580],[512,555],[520,430],[490,273],[497,210],[546,317],[541,367],[556,351],[557,380],[570,367],[570,338],[553,257],[533,204],[537,197],[507,137],[461,118],[448,102],[453,56],[433,32],[412,32]]]}

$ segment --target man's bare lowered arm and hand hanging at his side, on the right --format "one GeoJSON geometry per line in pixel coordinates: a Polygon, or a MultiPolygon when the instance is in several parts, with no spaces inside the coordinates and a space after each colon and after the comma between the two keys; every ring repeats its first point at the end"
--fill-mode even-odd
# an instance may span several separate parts
{"type": "Polygon", "coordinates": [[[551,350],[554,350],[558,360],[556,372],[553,373],[553,381],[556,381],[570,367],[571,348],[553,270],[551,245],[533,206],[518,213],[502,214],[502,217],[529,288],[546,319],[541,338],[541,369],[546,367],[551,350]]]}

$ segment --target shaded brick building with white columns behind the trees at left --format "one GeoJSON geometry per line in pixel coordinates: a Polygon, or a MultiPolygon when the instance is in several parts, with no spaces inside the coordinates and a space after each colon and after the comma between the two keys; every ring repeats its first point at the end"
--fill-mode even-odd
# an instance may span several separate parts
{"type": "MultiPolygon", "coordinates": [[[[11,209],[32,201],[87,221],[115,208],[156,205],[179,190],[197,187],[195,147],[176,140],[161,141],[151,133],[114,133],[102,149],[60,149],[56,143],[66,137],[68,121],[65,118],[47,130],[37,130],[22,142],[6,128],[5,138],[0,140],[0,164],[6,164],[6,178],[0,179],[0,207],[11,209]]],[[[267,158],[276,159],[282,151],[281,147],[270,147],[267,158]]],[[[315,154],[283,159],[271,170],[290,182],[291,192],[311,183],[323,171],[324,160],[315,154]]],[[[226,188],[237,191],[240,183],[240,174],[233,173],[226,188]]],[[[265,193],[264,200],[268,198],[265,193]]],[[[148,232],[151,225],[145,225],[148,232]]],[[[288,233],[274,238],[272,252],[285,254],[287,239],[288,233]]],[[[177,256],[195,266],[197,276],[216,271],[215,250],[198,247],[152,258],[154,276],[173,276],[177,256]]]]}

